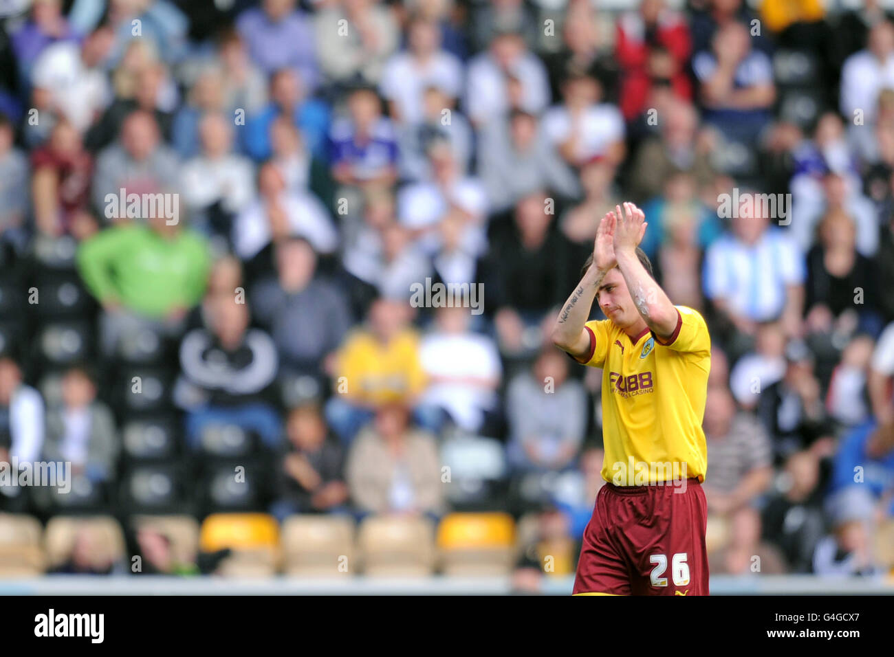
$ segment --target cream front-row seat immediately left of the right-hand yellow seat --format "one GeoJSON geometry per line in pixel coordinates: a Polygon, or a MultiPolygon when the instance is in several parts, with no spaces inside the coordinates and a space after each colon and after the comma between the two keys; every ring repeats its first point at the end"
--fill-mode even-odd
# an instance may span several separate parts
{"type": "Polygon", "coordinates": [[[426,577],[434,571],[434,527],[428,518],[365,518],[358,550],[368,576],[426,577]]]}

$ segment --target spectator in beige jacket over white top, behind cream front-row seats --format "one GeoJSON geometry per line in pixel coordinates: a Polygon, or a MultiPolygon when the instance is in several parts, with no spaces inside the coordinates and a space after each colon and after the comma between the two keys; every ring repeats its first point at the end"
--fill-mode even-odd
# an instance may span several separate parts
{"type": "Polygon", "coordinates": [[[409,424],[401,402],[384,404],[348,454],[350,497],[360,513],[443,512],[441,462],[434,437],[409,424]]]}

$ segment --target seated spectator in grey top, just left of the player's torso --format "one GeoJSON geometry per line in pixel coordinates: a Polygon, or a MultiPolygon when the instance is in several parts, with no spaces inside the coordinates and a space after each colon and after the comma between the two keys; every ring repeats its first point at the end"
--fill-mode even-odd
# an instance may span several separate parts
{"type": "Polygon", "coordinates": [[[569,378],[568,359],[544,348],[529,372],[506,391],[507,455],[519,471],[562,470],[573,465],[586,431],[586,393],[569,378]]]}

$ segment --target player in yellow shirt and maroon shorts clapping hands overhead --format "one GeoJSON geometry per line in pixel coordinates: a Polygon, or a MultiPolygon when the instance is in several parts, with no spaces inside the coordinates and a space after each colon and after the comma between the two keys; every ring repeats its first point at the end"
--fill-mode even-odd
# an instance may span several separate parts
{"type": "Polygon", "coordinates": [[[702,420],[711,369],[704,318],[674,306],[639,248],[645,215],[605,215],[552,341],[603,369],[603,479],[574,594],[707,595],[702,420]],[[592,261],[591,261],[592,260],[592,261]],[[587,321],[593,299],[608,319],[587,321]]]}

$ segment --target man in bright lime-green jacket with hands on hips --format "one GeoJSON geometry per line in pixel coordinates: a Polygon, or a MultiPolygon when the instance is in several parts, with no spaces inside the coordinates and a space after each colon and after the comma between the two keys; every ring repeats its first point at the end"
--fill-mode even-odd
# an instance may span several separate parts
{"type": "Polygon", "coordinates": [[[108,228],[78,249],[78,268],[103,305],[102,346],[114,353],[122,333],[153,325],[179,333],[205,292],[210,256],[197,232],[163,217],[108,228]]]}

